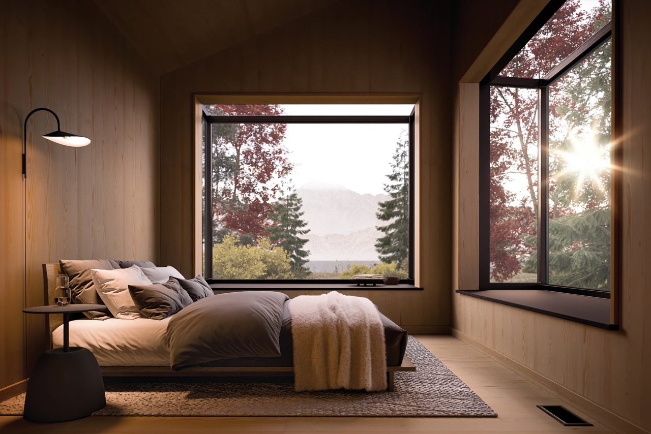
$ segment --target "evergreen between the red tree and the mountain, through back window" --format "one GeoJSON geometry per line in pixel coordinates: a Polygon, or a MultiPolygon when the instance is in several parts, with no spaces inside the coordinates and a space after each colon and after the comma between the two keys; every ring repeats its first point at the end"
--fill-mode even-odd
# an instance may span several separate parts
{"type": "Polygon", "coordinates": [[[271,243],[275,247],[282,247],[289,255],[295,278],[304,278],[311,274],[311,271],[305,267],[310,252],[303,250],[308,240],[300,237],[310,232],[309,229],[303,229],[307,223],[301,220],[302,206],[303,200],[296,192],[292,191],[279,198],[273,204],[273,211],[269,214],[274,224],[267,228],[271,243]]]}

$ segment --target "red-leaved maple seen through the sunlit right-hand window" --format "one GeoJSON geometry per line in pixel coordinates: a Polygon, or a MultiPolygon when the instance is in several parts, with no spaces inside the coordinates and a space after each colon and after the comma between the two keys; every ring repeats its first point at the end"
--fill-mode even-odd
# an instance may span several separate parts
{"type": "MultiPolygon", "coordinates": [[[[541,78],[585,42],[604,20],[604,2],[587,12],[578,0],[568,0],[499,74],[541,78]]],[[[561,83],[559,87],[563,87],[561,83]]],[[[538,222],[538,94],[535,89],[491,87],[490,109],[490,277],[504,282],[522,269],[525,258],[535,258],[538,222]],[[514,179],[518,186],[514,191],[514,179]]],[[[575,113],[580,102],[569,92],[557,92],[550,103],[550,129],[567,107],[575,113]]],[[[586,109],[586,107],[583,107],[586,109]]],[[[550,163],[551,164],[551,163],[550,163]]],[[[560,194],[550,180],[550,197],[560,194]]],[[[554,202],[550,218],[570,212],[554,202]]]]}

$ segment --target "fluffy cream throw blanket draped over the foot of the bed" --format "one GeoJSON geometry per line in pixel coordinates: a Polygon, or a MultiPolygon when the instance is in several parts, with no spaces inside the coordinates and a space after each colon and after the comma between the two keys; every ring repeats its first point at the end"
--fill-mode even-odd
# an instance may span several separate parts
{"type": "Polygon", "coordinates": [[[336,291],[289,301],[294,389],[387,388],[384,327],[367,298],[336,291]]]}

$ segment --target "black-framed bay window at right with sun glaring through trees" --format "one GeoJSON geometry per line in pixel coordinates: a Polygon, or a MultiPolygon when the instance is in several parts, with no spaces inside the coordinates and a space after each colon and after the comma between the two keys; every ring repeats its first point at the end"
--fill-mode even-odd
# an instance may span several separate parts
{"type": "Polygon", "coordinates": [[[484,287],[611,290],[611,10],[564,2],[486,90],[484,287]]]}

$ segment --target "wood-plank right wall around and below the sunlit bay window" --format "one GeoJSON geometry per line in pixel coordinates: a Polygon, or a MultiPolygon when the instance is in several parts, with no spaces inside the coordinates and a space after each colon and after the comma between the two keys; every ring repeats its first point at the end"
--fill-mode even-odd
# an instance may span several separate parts
{"type": "MultiPolygon", "coordinates": [[[[480,2],[481,3],[481,2],[480,2]]],[[[526,3],[526,2],[523,2],[526,3]]],[[[452,327],[460,336],[476,342],[521,370],[530,370],[552,388],[575,396],[589,405],[595,417],[605,418],[619,432],[651,432],[651,3],[623,0],[621,3],[621,100],[623,152],[622,191],[622,286],[620,331],[605,331],[551,318],[534,312],[499,305],[464,295],[452,297],[452,327]]],[[[529,4],[527,4],[529,6],[529,4]]],[[[516,35],[517,36],[517,35],[516,35]]],[[[484,72],[485,74],[485,72],[484,72]]],[[[482,74],[477,74],[481,77],[482,74]]],[[[460,85],[468,96],[471,84],[460,85]]],[[[475,289],[476,200],[478,180],[477,142],[466,140],[467,107],[463,96],[456,113],[460,174],[457,190],[458,256],[456,269],[460,288],[475,289]],[[465,157],[464,157],[465,156],[465,157]],[[471,156],[471,157],[467,157],[471,156]],[[464,174],[462,177],[461,174],[464,174]],[[469,187],[466,186],[469,185],[469,187]],[[462,187],[463,185],[463,187],[462,187]],[[475,187],[473,187],[475,186],[475,187]],[[471,227],[472,226],[472,227],[471,227]],[[470,286],[468,286],[470,285],[470,286]]],[[[472,137],[472,135],[470,135],[472,137]]]]}

